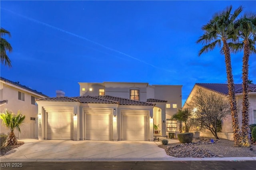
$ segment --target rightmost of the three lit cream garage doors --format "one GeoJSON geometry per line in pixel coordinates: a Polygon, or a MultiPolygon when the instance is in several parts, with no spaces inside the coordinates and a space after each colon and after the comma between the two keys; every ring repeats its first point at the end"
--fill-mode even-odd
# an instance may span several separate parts
{"type": "Polygon", "coordinates": [[[148,117],[146,115],[123,115],[123,140],[148,141],[148,117]]]}

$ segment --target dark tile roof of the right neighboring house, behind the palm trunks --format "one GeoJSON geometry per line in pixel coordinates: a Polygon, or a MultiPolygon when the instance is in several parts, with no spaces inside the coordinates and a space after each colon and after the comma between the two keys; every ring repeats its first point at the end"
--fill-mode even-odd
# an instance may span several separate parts
{"type": "MultiPolygon", "coordinates": [[[[213,90],[218,93],[228,94],[228,84],[218,84],[218,83],[196,83],[196,85],[213,90]]],[[[249,92],[256,92],[256,84],[248,84],[249,92]]],[[[242,93],[242,84],[235,84],[235,93],[242,93]]]]}

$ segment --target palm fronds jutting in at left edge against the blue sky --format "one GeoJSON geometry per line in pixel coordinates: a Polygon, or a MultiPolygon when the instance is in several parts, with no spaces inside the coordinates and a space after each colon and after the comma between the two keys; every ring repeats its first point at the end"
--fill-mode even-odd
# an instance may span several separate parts
{"type": "Polygon", "coordinates": [[[9,53],[12,52],[12,46],[10,45],[10,43],[8,43],[6,41],[6,39],[4,39],[3,37],[5,35],[8,35],[8,37],[11,37],[11,33],[9,31],[7,31],[4,28],[0,28],[0,37],[1,37],[1,41],[0,41],[0,53],[1,53],[1,64],[4,64],[6,66],[12,67],[11,61],[9,59],[9,57],[6,54],[6,51],[8,51],[9,53]]]}

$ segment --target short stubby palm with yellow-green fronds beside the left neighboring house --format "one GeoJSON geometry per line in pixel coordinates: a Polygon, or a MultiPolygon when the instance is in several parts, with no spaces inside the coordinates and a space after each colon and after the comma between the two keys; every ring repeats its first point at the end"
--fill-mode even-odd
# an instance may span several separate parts
{"type": "Polygon", "coordinates": [[[20,132],[20,127],[22,126],[25,115],[22,115],[20,111],[18,111],[17,115],[15,115],[11,110],[4,109],[4,111],[0,114],[0,119],[3,120],[2,125],[10,129],[9,138],[7,139],[7,145],[17,145],[17,138],[14,134],[14,130],[18,130],[20,132]]]}

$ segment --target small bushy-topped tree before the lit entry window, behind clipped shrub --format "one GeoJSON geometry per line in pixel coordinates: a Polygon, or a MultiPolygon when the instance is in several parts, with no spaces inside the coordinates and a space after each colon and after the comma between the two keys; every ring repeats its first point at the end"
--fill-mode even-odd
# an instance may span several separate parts
{"type": "Polygon", "coordinates": [[[184,122],[185,124],[185,133],[188,133],[189,131],[189,125],[188,125],[188,120],[190,119],[191,113],[190,111],[185,108],[185,109],[178,109],[178,112],[175,113],[174,115],[172,115],[172,119],[177,119],[177,121],[180,122],[180,124],[182,124],[182,122],[184,122]]]}

